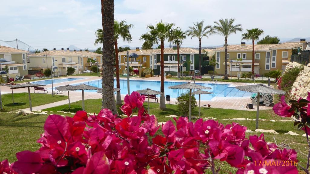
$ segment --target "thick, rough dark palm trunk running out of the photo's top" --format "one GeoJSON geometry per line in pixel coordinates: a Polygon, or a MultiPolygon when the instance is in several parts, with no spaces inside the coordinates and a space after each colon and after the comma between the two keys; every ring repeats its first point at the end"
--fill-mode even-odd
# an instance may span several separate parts
{"type": "Polygon", "coordinates": [[[103,29],[102,58],[102,108],[117,113],[114,100],[113,50],[114,50],[114,1],[101,0],[101,15],[103,29]]]}

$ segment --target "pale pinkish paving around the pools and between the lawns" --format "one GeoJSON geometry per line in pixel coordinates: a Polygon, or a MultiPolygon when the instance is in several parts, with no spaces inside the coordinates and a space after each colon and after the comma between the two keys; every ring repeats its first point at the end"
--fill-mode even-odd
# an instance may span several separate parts
{"type": "MultiPolygon", "coordinates": [[[[67,85],[69,83],[71,84],[76,84],[76,83],[82,83],[86,81],[91,81],[91,80],[100,80],[101,77],[97,76],[70,76],[70,77],[63,77],[63,78],[84,78],[84,79],[79,79],[79,80],[74,80],[74,82],[62,82],[62,83],[57,83],[54,84],[53,87],[55,89],[55,86],[63,86],[67,85]]],[[[121,79],[127,79],[126,77],[121,79]]],[[[160,77],[149,77],[149,78],[139,78],[139,77],[131,77],[130,80],[160,80],[160,77]]],[[[165,79],[165,81],[180,81],[180,82],[186,82],[186,80],[170,80],[170,79],[165,79]]],[[[191,80],[191,82],[193,82],[191,80]]],[[[212,81],[200,81],[196,80],[197,83],[212,83],[212,81]]],[[[230,84],[232,86],[239,86],[239,85],[249,85],[251,83],[237,83],[237,82],[218,82],[218,84],[230,84]]],[[[46,88],[48,89],[47,95],[51,94],[51,85],[46,85],[46,88]]],[[[30,89],[31,92],[33,92],[33,88],[30,89]]],[[[20,92],[28,92],[28,89],[26,88],[20,88],[20,89],[14,89],[14,93],[20,93],[20,92]]],[[[6,93],[11,93],[10,87],[1,87],[1,93],[6,94],[6,93]]],[[[64,92],[64,94],[60,95],[67,95],[67,92],[64,92]]],[[[122,99],[125,97],[125,95],[121,95],[122,99]]],[[[85,92],[84,93],[84,98],[85,99],[95,99],[95,98],[102,98],[101,93],[92,93],[92,92],[85,92]]],[[[70,92],[70,102],[76,102],[82,100],[82,94],[81,92],[78,91],[72,91],[70,92]]],[[[170,103],[175,104],[176,99],[175,98],[170,98],[170,103]]],[[[197,101],[198,102],[198,101],[197,101]]],[[[207,105],[210,103],[211,107],[214,108],[223,108],[223,109],[237,109],[237,110],[247,110],[247,111],[256,111],[256,106],[254,106],[254,109],[247,109],[245,106],[247,103],[250,103],[250,98],[248,97],[235,97],[235,98],[228,98],[228,97],[215,97],[212,99],[212,101],[201,101],[201,106],[207,105]]],[[[36,106],[33,107],[33,110],[42,110],[50,107],[55,107],[55,106],[60,106],[68,104],[68,100],[62,100],[54,103],[49,103],[41,106],[36,106]]],[[[271,107],[265,107],[265,106],[260,106],[259,110],[266,110],[266,109],[271,109],[271,107]]],[[[24,110],[30,110],[30,108],[26,108],[24,110]]]]}

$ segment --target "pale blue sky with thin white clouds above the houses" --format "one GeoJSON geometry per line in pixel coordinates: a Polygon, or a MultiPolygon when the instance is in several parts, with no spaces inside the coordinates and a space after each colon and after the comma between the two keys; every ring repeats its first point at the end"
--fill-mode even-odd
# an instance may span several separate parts
{"type": "MultiPolygon", "coordinates": [[[[94,49],[95,30],[101,28],[100,0],[1,0],[0,40],[15,38],[36,49],[94,49]]],[[[133,24],[133,41],[119,46],[141,46],[147,24],[163,20],[186,30],[193,22],[204,20],[213,25],[220,18],[235,18],[246,28],[260,28],[264,35],[280,38],[310,37],[308,0],[116,0],[115,19],[133,24]]],[[[228,44],[241,41],[241,32],[228,38],[228,44]]],[[[203,38],[202,46],[219,46],[220,36],[203,38]]],[[[196,38],[183,46],[198,46],[196,38]]],[[[166,46],[168,44],[166,43],[166,46]]]]}

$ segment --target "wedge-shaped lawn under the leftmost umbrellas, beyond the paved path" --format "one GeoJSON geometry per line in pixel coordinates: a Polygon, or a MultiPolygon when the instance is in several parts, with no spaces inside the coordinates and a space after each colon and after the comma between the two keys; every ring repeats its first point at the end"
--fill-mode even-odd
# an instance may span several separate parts
{"type": "MultiPolygon", "coordinates": [[[[68,99],[68,97],[64,95],[54,95],[54,97],[52,97],[52,95],[50,94],[41,93],[31,93],[30,96],[32,107],[68,99]]],[[[18,104],[12,103],[12,94],[3,94],[1,95],[1,98],[3,111],[16,111],[19,109],[25,109],[30,107],[28,93],[14,94],[14,102],[18,104]]]]}

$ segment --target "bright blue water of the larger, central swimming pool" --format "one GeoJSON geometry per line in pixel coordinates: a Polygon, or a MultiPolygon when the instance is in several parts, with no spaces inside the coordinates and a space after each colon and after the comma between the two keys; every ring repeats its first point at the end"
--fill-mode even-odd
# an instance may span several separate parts
{"type": "MultiPolygon", "coordinates": [[[[84,82],[86,85],[95,86],[101,88],[102,80],[93,80],[84,82]]],[[[177,98],[180,94],[185,93],[186,89],[169,89],[169,86],[180,85],[184,82],[171,82],[165,81],[165,95],[170,95],[171,98],[177,98]]],[[[213,92],[213,94],[203,94],[201,95],[201,100],[211,100],[212,98],[218,97],[250,97],[249,92],[240,91],[234,87],[228,87],[228,84],[206,84],[206,83],[196,83],[202,86],[210,87],[206,91],[213,92]]],[[[74,84],[80,85],[80,84],[74,84]]],[[[114,79],[114,87],[116,88],[116,80],[114,79]]],[[[121,94],[127,94],[127,80],[120,80],[121,94]]],[[[156,91],[160,91],[160,81],[149,81],[149,80],[130,80],[130,92],[150,88],[156,91]]],[[[90,90],[87,92],[96,92],[95,90],[90,90]]],[[[198,99],[198,95],[195,95],[198,99]]]]}

